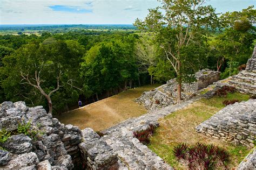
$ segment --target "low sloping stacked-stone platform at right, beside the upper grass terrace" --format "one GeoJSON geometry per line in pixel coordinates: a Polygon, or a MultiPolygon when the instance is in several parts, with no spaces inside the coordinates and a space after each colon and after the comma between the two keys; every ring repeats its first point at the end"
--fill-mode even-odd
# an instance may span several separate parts
{"type": "Polygon", "coordinates": [[[228,105],[196,127],[197,132],[235,144],[254,146],[256,100],[228,105]]]}

